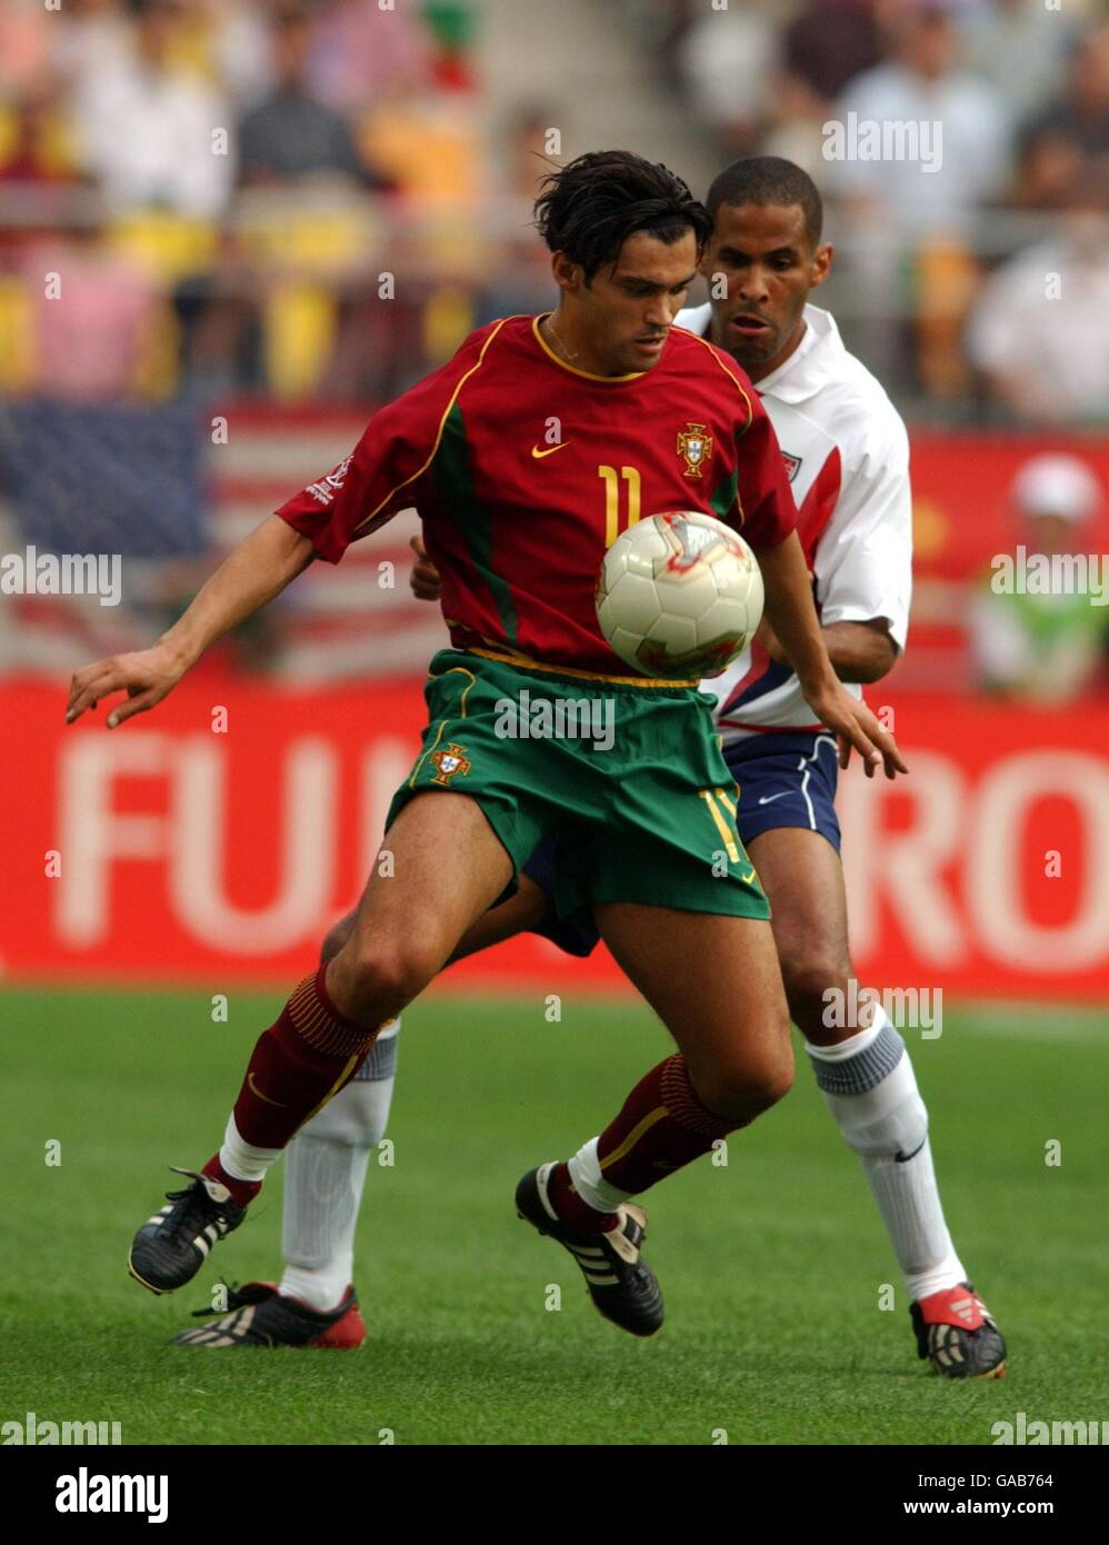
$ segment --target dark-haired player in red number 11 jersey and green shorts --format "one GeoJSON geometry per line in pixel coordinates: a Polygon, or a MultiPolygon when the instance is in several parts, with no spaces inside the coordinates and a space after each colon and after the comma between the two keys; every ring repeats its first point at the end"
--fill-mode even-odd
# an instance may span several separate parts
{"type": "Polygon", "coordinates": [[[664,167],[607,151],[554,173],[538,216],[556,312],[474,332],[252,533],[153,649],[73,680],[68,722],[127,691],[114,728],[159,703],[312,558],[335,562],[397,510],[420,511],[454,647],[432,661],[423,751],[389,813],[392,873],[374,874],[343,949],[259,1037],[221,1148],[201,1173],[184,1171],[190,1183],[137,1231],[130,1268],[156,1293],[195,1276],[378,1031],[511,891],[536,844],[571,822],[588,836],[588,862],[567,910],[592,908],[678,1051],[601,1134],[588,1197],[565,1163],[548,1163],[521,1180],[516,1204],[573,1253],[607,1318],[636,1335],[661,1326],[630,1197],[780,1098],[792,1051],[769,908],[735,831],[711,703],[694,681],[629,677],[598,629],[596,573],[622,525],[697,508],[741,527],[763,569],[768,623],[842,757],[854,746],[868,774],[905,771],[828,660],[765,409],[726,354],[670,332],[707,236],[704,209],[664,167]],[[694,425],[711,442],[697,460],[694,425]],[[601,698],[612,745],[505,739],[500,705],[524,691],[531,701],[601,698]],[[690,980],[686,963],[703,958],[714,972],[690,980]]]}

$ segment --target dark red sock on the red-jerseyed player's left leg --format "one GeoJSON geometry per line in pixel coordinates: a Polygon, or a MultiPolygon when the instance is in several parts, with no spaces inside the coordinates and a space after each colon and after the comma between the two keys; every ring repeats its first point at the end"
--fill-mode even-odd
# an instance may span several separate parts
{"type": "MultiPolygon", "coordinates": [[[[326,970],[304,978],[250,1054],[235,1125],[255,1148],[284,1148],[354,1075],[382,1027],[340,1014],[327,997],[326,970]]],[[[230,1188],[224,1174],[219,1179],[230,1188]]]]}

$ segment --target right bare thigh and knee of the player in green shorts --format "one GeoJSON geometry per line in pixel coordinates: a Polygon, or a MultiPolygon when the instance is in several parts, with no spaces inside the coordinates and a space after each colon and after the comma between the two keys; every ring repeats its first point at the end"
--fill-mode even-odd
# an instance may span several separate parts
{"type": "Polygon", "coordinates": [[[794,1058],[768,922],[612,901],[596,907],[596,924],[709,1109],[765,1108],[786,1092],[794,1058]]]}

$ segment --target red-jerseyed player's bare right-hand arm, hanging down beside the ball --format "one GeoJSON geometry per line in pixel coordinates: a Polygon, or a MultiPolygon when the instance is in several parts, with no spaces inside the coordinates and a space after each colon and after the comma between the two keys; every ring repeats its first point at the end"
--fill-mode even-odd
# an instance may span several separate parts
{"type": "Polygon", "coordinates": [[[763,570],[766,620],[797,672],[809,708],[839,737],[840,766],[848,765],[854,746],[863,759],[867,777],[873,777],[882,765],[887,777],[908,772],[897,742],[882,729],[865,703],[851,697],[833,669],[797,533],[791,531],[777,547],[757,547],[755,556],[763,570]]]}

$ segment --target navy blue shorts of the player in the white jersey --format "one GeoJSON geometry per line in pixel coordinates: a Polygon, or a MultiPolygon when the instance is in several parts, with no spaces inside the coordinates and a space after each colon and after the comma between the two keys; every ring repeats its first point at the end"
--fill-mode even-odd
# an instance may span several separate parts
{"type": "MultiPolygon", "coordinates": [[[[836,737],[802,731],[797,735],[749,735],[724,748],[724,762],[740,788],[735,823],[749,847],[763,831],[802,827],[819,831],[839,853],[836,817],[839,748],[836,737]]],[[[524,865],[524,873],[554,901],[554,865],[559,844],[582,840],[573,831],[545,837],[524,865]]],[[[587,839],[584,839],[587,840],[587,839]]],[[[581,912],[536,929],[567,955],[590,955],[601,935],[581,912]]]]}

